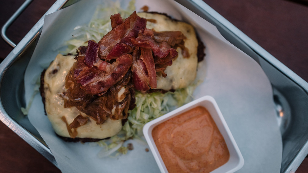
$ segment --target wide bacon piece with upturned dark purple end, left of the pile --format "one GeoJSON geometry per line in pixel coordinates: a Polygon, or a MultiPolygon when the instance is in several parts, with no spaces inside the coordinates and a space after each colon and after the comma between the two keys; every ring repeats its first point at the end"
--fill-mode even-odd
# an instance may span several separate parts
{"type": "MultiPolygon", "coordinates": [[[[111,86],[119,82],[132,66],[132,55],[130,54],[120,56],[112,64],[101,60],[98,57],[98,46],[97,43],[89,40],[85,56],[78,56],[77,68],[76,65],[73,67],[74,79],[72,80],[77,81],[75,87],[80,87],[84,94],[104,94],[111,86]]],[[[82,94],[79,93],[79,95],[82,94]]]]}

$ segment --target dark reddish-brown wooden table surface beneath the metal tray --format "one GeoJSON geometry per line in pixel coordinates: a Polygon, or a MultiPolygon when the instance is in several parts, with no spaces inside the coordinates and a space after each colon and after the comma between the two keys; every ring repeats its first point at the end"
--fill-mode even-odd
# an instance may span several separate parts
{"type": "MultiPolygon", "coordinates": [[[[0,26],[24,0],[2,1],[0,26]]],[[[308,81],[308,1],[204,0],[270,54],[308,81]]],[[[55,0],[34,0],[8,29],[18,43],[55,0]]],[[[0,39],[0,58],[12,48],[0,39]]],[[[0,172],[60,172],[39,152],[0,123],[0,172]]],[[[297,173],[308,172],[306,158],[297,173]]]]}

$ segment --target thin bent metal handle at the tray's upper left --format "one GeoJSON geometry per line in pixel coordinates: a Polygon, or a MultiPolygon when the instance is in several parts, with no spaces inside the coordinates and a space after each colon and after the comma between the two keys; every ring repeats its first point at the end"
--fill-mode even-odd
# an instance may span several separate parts
{"type": "Polygon", "coordinates": [[[14,42],[12,42],[12,40],[10,40],[10,38],[8,38],[6,36],[6,30],[7,28],[15,21],[15,19],[26,9],[26,7],[32,2],[32,0],[26,0],[19,8],[18,10],[9,18],[8,21],[6,21],[6,23],[2,26],[1,28],[1,37],[3,38],[3,40],[9,44],[11,47],[15,47],[16,44],[14,42]]]}

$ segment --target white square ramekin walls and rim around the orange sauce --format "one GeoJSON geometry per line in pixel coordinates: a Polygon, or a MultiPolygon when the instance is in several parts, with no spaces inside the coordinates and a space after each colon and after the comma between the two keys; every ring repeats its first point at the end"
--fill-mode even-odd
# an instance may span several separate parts
{"type": "Polygon", "coordinates": [[[156,144],[152,137],[152,130],[155,126],[158,124],[171,119],[177,115],[180,115],[181,113],[184,113],[185,111],[188,111],[190,109],[193,109],[194,107],[203,106],[205,107],[210,115],[212,116],[213,120],[215,121],[219,131],[221,132],[221,135],[225,139],[225,143],[227,144],[230,158],[227,163],[222,165],[221,167],[218,167],[217,169],[213,170],[211,173],[218,173],[218,172],[228,172],[232,173],[235,172],[244,165],[244,158],[241,154],[241,151],[237,147],[237,144],[231,134],[231,131],[229,130],[229,127],[224,119],[224,117],[221,114],[221,111],[218,108],[218,105],[215,101],[215,99],[211,96],[204,96],[200,99],[194,100],[193,102],[190,102],[182,107],[177,108],[174,111],[169,112],[168,114],[165,114],[157,119],[154,119],[143,127],[143,134],[144,137],[152,151],[152,154],[156,160],[156,163],[160,169],[161,172],[168,172],[167,168],[160,156],[159,151],[157,150],[156,144]]]}

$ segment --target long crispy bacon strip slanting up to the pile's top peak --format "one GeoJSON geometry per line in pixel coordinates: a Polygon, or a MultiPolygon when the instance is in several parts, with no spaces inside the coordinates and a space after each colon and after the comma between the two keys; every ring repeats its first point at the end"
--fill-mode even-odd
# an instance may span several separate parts
{"type": "MultiPolygon", "coordinates": [[[[111,18],[111,20],[118,20],[117,17],[111,18]]],[[[117,23],[111,21],[111,23],[117,23]]],[[[115,26],[115,24],[113,25],[115,26]]],[[[140,18],[136,11],[134,11],[128,18],[124,20],[120,25],[116,25],[108,34],[106,34],[99,42],[99,57],[101,59],[111,60],[120,57],[123,54],[131,53],[133,45],[131,38],[138,36],[139,30],[143,31],[146,26],[146,19],[140,18]],[[117,53],[113,47],[121,47],[117,53]],[[123,43],[123,44],[121,44],[123,43]],[[112,50],[112,51],[111,51],[112,50]]]]}

